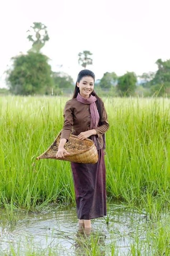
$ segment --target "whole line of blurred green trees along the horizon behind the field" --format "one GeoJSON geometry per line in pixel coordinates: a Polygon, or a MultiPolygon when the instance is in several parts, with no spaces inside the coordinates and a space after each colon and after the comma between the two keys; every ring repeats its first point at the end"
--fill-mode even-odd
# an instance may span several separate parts
{"type": "MultiPolygon", "coordinates": [[[[11,58],[13,65],[6,71],[8,91],[15,95],[58,95],[63,90],[73,91],[75,84],[72,77],[64,72],[53,72],[48,64],[49,58],[41,53],[49,40],[47,27],[41,22],[34,22],[27,32],[32,47],[27,54],[11,58]]],[[[90,51],[82,51],[78,54],[78,63],[83,68],[92,65],[91,55],[90,51]]],[[[158,59],[156,64],[156,72],[143,73],[141,76],[134,72],[126,72],[122,76],[106,72],[96,81],[95,90],[112,96],[170,96],[170,60],[158,59]]],[[[5,89],[0,92],[5,92],[5,89]]]]}

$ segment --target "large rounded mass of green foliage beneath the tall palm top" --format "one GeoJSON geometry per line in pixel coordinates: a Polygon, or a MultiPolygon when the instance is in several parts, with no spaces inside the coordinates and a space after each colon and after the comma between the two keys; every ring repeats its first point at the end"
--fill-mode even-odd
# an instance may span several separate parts
{"type": "Polygon", "coordinates": [[[13,69],[7,71],[7,82],[11,93],[20,95],[51,93],[52,71],[45,55],[29,52],[12,59],[13,69]]]}

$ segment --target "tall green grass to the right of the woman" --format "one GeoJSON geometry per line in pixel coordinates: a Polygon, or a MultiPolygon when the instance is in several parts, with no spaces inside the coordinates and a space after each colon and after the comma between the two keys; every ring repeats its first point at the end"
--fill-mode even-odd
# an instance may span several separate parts
{"type": "MultiPolygon", "coordinates": [[[[170,100],[108,99],[107,191],[145,205],[169,205],[170,100]]],[[[155,212],[156,213],[156,212],[155,212]]]]}

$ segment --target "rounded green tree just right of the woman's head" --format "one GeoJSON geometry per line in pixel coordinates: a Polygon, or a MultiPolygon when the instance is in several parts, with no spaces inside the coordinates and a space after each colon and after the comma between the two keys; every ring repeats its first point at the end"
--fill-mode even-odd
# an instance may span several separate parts
{"type": "Polygon", "coordinates": [[[111,88],[112,86],[115,86],[117,84],[117,79],[118,77],[115,72],[106,72],[101,78],[99,85],[102,89],[111,88]]]}

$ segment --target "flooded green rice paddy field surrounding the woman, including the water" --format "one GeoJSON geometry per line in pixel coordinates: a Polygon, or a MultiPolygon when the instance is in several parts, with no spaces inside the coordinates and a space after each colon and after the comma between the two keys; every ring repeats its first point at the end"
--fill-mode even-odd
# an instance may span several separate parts
{"type": "Polygon", "coordinates": [[[103,98],[108,215],[84,236],[70,162],[36,160],[70,98],[0,97],[0,255],[170,255],[170,99],[103,98]]]}

